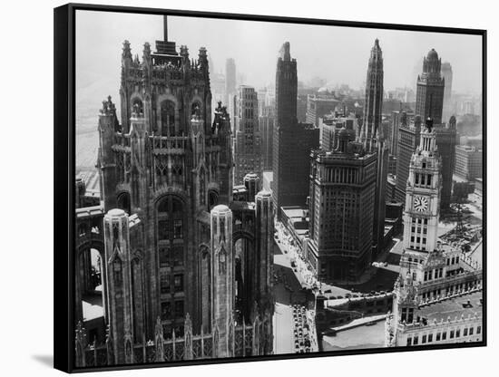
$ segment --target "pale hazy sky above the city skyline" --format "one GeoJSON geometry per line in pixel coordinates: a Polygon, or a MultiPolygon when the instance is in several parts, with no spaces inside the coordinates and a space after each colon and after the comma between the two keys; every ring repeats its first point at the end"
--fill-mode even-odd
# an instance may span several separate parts
{"type": "MultiPolygon", "coordinates": [[[[383,50],[386,90],[415,87],[423,56],[435,48],[442,62],[452,64],[453,90],[482,91],[482,44],[477,35],[169,17],[169,40],[177,46],[186,44],[191,57],[206,47],[217,73],[225,71],[227,58],[234,58],[245,83],[257,88],[274,82],[276,59],[285,41],[291,43],[291,56],[298,61],[299,81],[319,76],[332,85],[358,88],[366,80],[376,38],[383,50]]],[[[142,59],[143,43],[151,43],[154,51],[154,42],[162,39],[162,16],[77,11],[77,102],[88,100],[94,92],[100,96],[97,103],[108,93],[117,95],[125,39],[132,45],[132,54],[142,59]]]]}

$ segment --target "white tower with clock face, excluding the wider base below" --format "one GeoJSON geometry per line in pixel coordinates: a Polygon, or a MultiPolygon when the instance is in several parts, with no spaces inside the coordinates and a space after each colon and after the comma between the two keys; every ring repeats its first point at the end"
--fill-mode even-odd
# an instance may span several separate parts
{"type": "Polygon", "coordinates": [[[436,148],[433,121],[426,121],[419,147],[412,155],[406,187],[404,212],[405,254],[426,259],[436,249],[440,214],[441,158],[436,148]]]}

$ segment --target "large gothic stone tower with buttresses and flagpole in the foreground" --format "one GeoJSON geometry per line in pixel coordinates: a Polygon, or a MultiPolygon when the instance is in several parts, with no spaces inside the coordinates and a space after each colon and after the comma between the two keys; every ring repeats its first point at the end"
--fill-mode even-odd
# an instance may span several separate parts
{"type": "MultiPolygon", "coordinates": [[[[125,41],[121,68],[122,119],[111,97],[99,115],[103,204],[76,218],[76,252],[102,261],[107,333],[89,348],[77,310],[77,365],[271,353],[272,200],[233,200],[230,115],[219,103],[211,120],[206,50],[191,59],[165,35],[140,61],[125,41]]],[[[77,262],[75,297],[84,276],[77,262]]]]}

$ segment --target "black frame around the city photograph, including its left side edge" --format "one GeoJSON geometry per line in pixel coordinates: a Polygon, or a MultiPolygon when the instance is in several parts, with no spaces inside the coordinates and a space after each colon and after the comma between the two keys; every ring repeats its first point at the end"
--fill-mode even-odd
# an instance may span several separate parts
{"type": "Polygon", "coordinates": [[[295,358],[327,357],[366,353],[397,353],[420,350],[441,350],[485,346],[487,344],[487,237],[486,237],[486,133],[487,133],[487,32],[486,30],[449,28],[408,24],[378,24],[353,21],[281,17],[258,14],[223,14],[173,9],[156,9],[131,6],[68,4],[54,8],[54,367],[64,372],[93,372],[124,369],[158,368],[179,365],[201,365],[226,362],[252,362],[264,360],[285,360],[295,358]],[[482,37],[483,61],[483,340],[475,343],[453,343],[418,345],[413,347],[371,348],[355,351],[335,351],[308,354],[277,354],[251,356],[249,358],[227,358],[191,360],[182,362],[154,362],[141,364],[113,365],[109,367],[74,367],[73,352],[73,254],[74,247],[74,169],[75,169],[75,13],[78,10],[117,12],[134,14],[168,14],[190,17],[210,17],[219,19],[266,21],[273,23],[315,24],[350,26],[369,29],[418,31],[445,34],[473,34],[482,37]]]}

